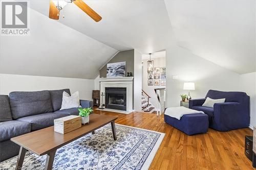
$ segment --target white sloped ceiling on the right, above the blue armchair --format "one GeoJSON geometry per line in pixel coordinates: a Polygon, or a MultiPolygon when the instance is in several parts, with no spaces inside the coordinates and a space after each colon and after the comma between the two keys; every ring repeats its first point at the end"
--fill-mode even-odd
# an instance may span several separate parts
{"type": "Polygon", "coordinates": [[[177,44],[239,74],[256,71],[256,1],[165,1],[177,44]]]}

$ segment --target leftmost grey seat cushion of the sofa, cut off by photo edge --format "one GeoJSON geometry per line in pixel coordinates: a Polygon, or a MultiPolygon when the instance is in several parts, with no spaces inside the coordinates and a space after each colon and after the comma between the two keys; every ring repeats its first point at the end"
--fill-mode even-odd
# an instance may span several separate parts
{"type": "Polygon", "coordinates": [[[31,131],[31,124],[18,120],[6,121],[0,124],[0,141],[23,135],[31,131]]]}

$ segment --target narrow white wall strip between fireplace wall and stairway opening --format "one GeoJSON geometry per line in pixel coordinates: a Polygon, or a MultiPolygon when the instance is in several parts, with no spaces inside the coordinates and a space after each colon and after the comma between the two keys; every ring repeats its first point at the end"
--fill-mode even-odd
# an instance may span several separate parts
{"type": "Polygon", "coordinates": [[[134,50],[134,110],[141,111],[142,55],[134,50]]]}

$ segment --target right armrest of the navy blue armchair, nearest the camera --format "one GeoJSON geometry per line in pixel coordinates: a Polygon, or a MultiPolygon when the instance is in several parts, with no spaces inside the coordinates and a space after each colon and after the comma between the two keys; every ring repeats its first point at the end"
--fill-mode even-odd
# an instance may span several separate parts
{"type": "Polygon", "coordinates": [[[250,115],[241,103],[225,102],[214,104],[214,122],[216,129],[228,131],[249,126],[250,115]]]}

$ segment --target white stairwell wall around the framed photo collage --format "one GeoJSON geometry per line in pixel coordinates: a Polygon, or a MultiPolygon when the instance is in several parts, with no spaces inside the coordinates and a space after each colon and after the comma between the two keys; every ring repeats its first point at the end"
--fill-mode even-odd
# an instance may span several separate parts
{"type": "MultiPolygon", "coordinates": [[[[165,53],[164,53],[165,55],[165,53]]],[[[153,58],[152,60],[154,60],[154,67],[165,67],[165,56],[162,56],[161,58],[153,58]]],[[[148,86],[147,85],[147,66],[146,66],[146,62],[148,61],[148,59],[143,60],[143,84],[142,84],[142,89],[151,96],[150,98],[150,102],[154,107],[157,107],[157,95],[155,92],[155,88],[165,88],[165,86],[148,86]]]]}

